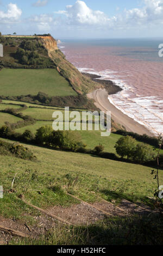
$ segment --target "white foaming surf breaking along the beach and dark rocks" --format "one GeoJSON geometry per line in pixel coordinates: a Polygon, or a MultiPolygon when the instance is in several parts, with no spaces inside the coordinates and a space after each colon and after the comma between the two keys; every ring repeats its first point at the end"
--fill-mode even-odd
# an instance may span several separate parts
{"type": "Polygon", "coordinates": [[[128,115],[128,117],[137,121],[137,123],[146,126],[154,135],[163,133],[163,113],[162,109],[158,108],[158,106],[162,106],[162,100],[157,99],[155,96],[143,97],[137,94],[134,94],[135,97],[131,98],[130,94],[134,93],[135,88],[129,86],[126,81],[120,80],[116,71],[104,70],[98,72],[90,68],[78,68],[78,70],[101,76],[101,78],[97,79],[111,80],[117,84],[123,90],[117,94],[109,95],[108,100],[110,103],[128,115]]]}

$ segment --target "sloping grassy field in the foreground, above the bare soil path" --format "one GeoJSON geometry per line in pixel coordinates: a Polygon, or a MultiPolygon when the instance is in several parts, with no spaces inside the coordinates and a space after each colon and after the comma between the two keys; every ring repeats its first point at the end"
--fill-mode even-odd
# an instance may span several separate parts
{"type": "MultiPolygon", "coordinates": [[[[97,200],[89,191],[98,191],[106,200],[114,198],[118,202],[121,198],[127,198],[134,202],[143,202],[147,200],[146,196],[153,195],[156,187],[149,167],[32,145],[27,147],[36,155],[37,162],[1,156],[1,184],[4,187],[4,199],[0,200],[1,216],[26,218],[25,212],[32,213],[31,209],[18,199],[19,194],[23,194],[29,202],[42,208],[75,203],[76,200],[66,194],[54,193],[52,188],[67,187],[77,175],[77,184],[67,189],[87,202],[97,200]],[[9,193],[15,173],[15,193],[9,193]],[[43,193],[40,195],[37,190],[43,193]]],[[[163,182],[162,174],[160,182],[163,182]]]]}

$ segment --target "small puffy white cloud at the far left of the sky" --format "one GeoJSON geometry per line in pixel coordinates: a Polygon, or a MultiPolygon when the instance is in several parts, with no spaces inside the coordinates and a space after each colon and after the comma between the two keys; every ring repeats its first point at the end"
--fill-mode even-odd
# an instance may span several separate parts
{"type": "Polygon", "coordinates": [[[22,15],[22,10],[17,7],[16,4],[9,3],[8,10],[5,13],[0,10],[0,22],[1,23],[12,23],[17,22],[22,15]]]}

